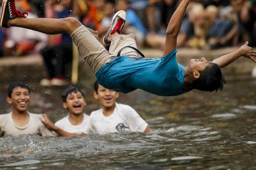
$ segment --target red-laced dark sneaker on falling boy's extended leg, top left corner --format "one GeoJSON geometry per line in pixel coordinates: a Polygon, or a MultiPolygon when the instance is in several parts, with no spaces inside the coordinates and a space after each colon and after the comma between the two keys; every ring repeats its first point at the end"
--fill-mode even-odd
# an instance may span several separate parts
{"type": "Polygon", "coordinates": [[[28,13],[26,12],[20,12],[19,10],[16,10],[15,8],[15,1],[14,0],[3,0],[2,2],[2,11],[0,16],[0,26],[9,28],[7,25],[7,22],[10,19],[16,18],[16,17],[27,17],[28,13]],[[25,16],[26,14],[26,16],[25,16]]]}

